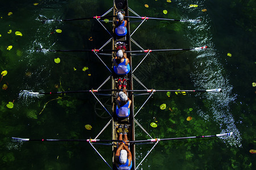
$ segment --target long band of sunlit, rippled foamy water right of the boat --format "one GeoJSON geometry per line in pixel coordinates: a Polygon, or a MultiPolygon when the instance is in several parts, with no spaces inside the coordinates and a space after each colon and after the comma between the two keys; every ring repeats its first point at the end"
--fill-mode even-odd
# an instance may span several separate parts
{"type": "MultiPolygon", "coordinates": [[[[203,7],[204,2],[195,1],[191,3],[203,7]]],[[[180,2],[179,5],[188,11],[189,16],[193,13],[199,14],[201,12],[198,8],[189,7],[187,2],[180,2]]],[[[183,16],[183,18],[187,18],[187,16],[183,16]]],[[[199,89],[222,89],[222,92],[218,94],[198,94],[197,96],[201,96],[201,99],[207,99],[205,102],[208,104],[205,105],[208,108],[204,110],[199,107],[197,114],[205,120],[217,122],[220,126],[220,133],[233,131],[233,137],[223,138],[222,140],[229,143],[229,145],[241,147],[241,134],[236,127],[236,122],[230,109],[230,105],[235,102],[237,95],[232,92],[233,86],[229,83],[228,75],[225,74],[222,63],[218,59],[221,56],[212,42],[213,36],[210,29],[210,18],[208,15],[204,15],[204,19],[200,23],[187,22],[185,38],[191,42],[192,46],[209,46],[209,49],[197,52],[197,57],[193,63],[196,71],[191,73],[194,86],[199,89]]]]}

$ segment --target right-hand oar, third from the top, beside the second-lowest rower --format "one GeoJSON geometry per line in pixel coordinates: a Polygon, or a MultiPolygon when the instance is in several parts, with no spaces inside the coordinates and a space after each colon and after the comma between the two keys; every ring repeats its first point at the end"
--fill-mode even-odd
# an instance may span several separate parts
{"type": "Polygon", "coordinates": [[[127,90],[131,92],[221,92],[221,88],[207,89],[207,90],[127,90]]]}

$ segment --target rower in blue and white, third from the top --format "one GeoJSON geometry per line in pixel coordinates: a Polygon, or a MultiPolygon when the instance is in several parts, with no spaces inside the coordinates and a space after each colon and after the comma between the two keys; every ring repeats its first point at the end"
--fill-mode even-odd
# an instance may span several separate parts
{"type": "Polygon", "coordinates": [[[115,108],[115,113],[117,114],[117,116],[129,117],[131,100],[127,97],[127,95],[124,92],[121,91],[118,93],[118,98],[115,101],[115,103],[117,103],[117,107],[115,108]]]}

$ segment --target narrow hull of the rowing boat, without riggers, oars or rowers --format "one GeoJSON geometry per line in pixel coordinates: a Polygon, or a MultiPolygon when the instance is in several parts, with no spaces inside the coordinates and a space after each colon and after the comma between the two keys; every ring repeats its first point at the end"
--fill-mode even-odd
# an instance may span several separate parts
{"type": "MultiPolygon", "coordinates": [[[[113,15],[117,15],[118,11],[123,11],[125,16],[129,16],[129,10],[128,10],[128,1],[127,0],[114,0],[113,2],[113,15]]],[[[113,36],[113,40],[112,40],[112,50],[114,51],[116,49],[116,45],[118,42],[121,42],[122,44],[126,45],[126,50],[131,51],[131,41],[130,41],[130,23],[129,23],[129,18],[126,19],[127,20],[127,34],[125,36],[117,36],[114,35],[113,36]]],[[[115,22],[116,22],[116,18],[113,19],[113,32],[115,31],[115,22]]],[[[115,53],[112,53],[112,61],[115,57],[115,53]]],[[[131,71],[129,74],[127,74],[126,78],[127,78],[127,90],[133,90],[133,76],[131,74],[132,72],[132,60],[131,60],[131,53],[127,53],[127,58],[129,58],[130,61],[130,67],[131,67],[131,71]]],[[[113,65],[114,67],[114,65],[113,65]]],[[[115,89],[117,87],[117,78],[118,76],[116,76],[115,74],[112,75],[112,89],[115,89]]],[[[115,108],[116,108],[116,104],[115,104],[115,100],[117,98],[117,92],[113,91],[112,92],[112,103],[113,103],[113,117],[112,117],[112,140],[117,140],[118,139],[118,134],[117,134],[117,126],[118,125],[125,125],[127,124],[129,127],[129,133],[127,134],[127,138],[129,141],[134,141],[135,140],[135,130],[134,130],[134,121],[133,121],[133,117],[134,117],[134,98],[133,95],[128,95],[129,99],[131,100],[131,107],[130,107],[130,115],[127,118],[119,118],[116,116],[115,114],[115,108]]],[[[112,147],[112,151],[113,151],[113,168],[115,167],[115,152],[117,151],[118,148],[118,142],[113,142],[113,147],[112,147]]],[[[130,151],[131,151],[131,155],[132,155],[132,164],[134,168],[135,165],[135,145],[130,145],[130,151]]]]}

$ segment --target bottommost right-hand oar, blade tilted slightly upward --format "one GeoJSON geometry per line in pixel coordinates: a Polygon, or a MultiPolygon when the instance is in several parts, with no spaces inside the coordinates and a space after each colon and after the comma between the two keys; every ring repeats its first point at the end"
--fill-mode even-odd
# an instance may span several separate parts
{"type": "Polygon", "coordinates": [[[141,141],[129,141],[129,143],[136,143],[136,142],[157,142],[157,141],[170,141],[170,140],[177,140],[177,139],[191,139],[191,138],[210,138],[210,137],[229,137],[233,134],[233,132],[223,133],[223,134],[216,134],[216,135],[208,135],[208,136],[196,136],[196,137],[181,137],[181,138],[165,138],[165,139],[147,139],[141,141]]]}

